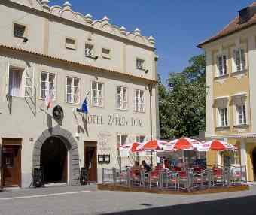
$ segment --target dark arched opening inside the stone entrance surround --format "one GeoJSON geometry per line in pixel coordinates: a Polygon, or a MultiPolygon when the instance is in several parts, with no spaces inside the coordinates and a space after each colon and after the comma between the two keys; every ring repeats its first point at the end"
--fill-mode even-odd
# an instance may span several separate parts
{"type": "Polygon", "coordinates": [[[50,137],[41,147],[40,164],[44,183],[67,183],[68,150],[60,138],[50,137]]]}

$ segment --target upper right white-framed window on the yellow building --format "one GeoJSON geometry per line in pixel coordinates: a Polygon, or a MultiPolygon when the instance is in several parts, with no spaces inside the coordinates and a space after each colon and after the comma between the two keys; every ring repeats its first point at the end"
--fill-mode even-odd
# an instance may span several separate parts
{"type": "Polygon", "coordinates": [[[245,45],[241,45],[241,47],[238,47],[238,48],[233,48],[232,54],[233,54],[233,72],[244,71],[246,69],[246,49],[245,49],[245,45]],[[242,56],[242,51],[243,51],[243,56],[242,56]],[[237,59],[236,59],[237,52],[238,52],[238,55],[239,55],[239,68],[240,69],[237,68],[238,65],[236,64],[236,62],[237,62],[237,59]]]}

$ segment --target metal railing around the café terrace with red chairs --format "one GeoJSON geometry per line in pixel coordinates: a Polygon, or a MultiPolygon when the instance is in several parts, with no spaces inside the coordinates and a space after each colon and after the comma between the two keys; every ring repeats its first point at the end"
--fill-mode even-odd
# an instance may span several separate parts
{"type": "Polygon", "coordinates": [[[152,171],[132,168],[102,169],[102,183],[147,189],[173,189],[190,192],[215,186],[233,186],[247,182],[245,166],[172,171],[156,168],[152,171]]]}

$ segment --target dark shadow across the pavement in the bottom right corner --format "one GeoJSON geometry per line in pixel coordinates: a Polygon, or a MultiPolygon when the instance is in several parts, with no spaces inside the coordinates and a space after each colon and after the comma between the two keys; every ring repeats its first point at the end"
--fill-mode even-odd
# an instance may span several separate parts
{"type": "MultiPolygon", "coordinates": [[[[227,193],[228,195],[228,193],[227,193]]],[[[191,195],[190,198],[193,198],[191,195]]],[[[256,214],[256,196],[248,196],[243,198],[230,198],[217,201],[206,201],[194,204],[181,204],[169,207],[155,207],[142,210],[131,210],[118,213],[108,213],[108,214],[119,214],[119,215],[155,215],[155,214],[172,214],[172,215],[255,215],[256,214]]],[[[154,207],[154,204],[140,204],[142,207],[154,207]]],[[[106,213],[105,213],[106,214],[106,213]]]]}

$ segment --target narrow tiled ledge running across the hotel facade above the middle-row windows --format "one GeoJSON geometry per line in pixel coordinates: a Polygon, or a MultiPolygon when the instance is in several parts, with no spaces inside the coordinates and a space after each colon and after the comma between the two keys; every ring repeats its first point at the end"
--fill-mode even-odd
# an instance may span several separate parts
{"type": "Polygon", "coordinates": [[[55,57],[55,56],[49,56],[49,55],[45,55],[45,54],[42,54],[42,53],[36,53],[36,52],[33,52],[33,51],[29,51],[29,50],[23,50],[23,49],[17,48],[17,47],[9,47],[9,46],[4,45],[4,44],[0,44],[0,50],[11,50],[11,51],[14,51],[14,52],[17,52],[17,53],[29,54],[29,55],[32,55],[32,56],[39,56],[43,59],[51,60],[51,61],[54,61],[54,62],[60,62],[60,63],[68,64],[68,65],[79,66],[81,68],[87,68],[87,69],[90,68],[91,70],[94,70],[94,71],[105,72],[105,73],[108,73],[108,74],[115,74],[115,75],[118,75],[120,77],[142,80],[145,83],[151,83],[153,85],[157,84],[157,80],[151,80],[151,79],[148,79],[148,78],[145,78],[145,77],[139,77],[139,76],[136,76],[136,75],[133,75],[133,74],[125,74],[125,73],[122,73],[120,71],[108,70],[108,69],[105,69],[105,68],[99,68],[99,67],[92,66],[92,65],[86,65],[86,64],[83,64],[83,63],[80,63],[80,62],[73,62],[73,61],[70,61],[70,60],[67,60],[67,59],[62,59],[62,58],[55,57]]]}

